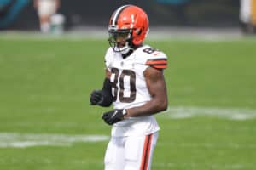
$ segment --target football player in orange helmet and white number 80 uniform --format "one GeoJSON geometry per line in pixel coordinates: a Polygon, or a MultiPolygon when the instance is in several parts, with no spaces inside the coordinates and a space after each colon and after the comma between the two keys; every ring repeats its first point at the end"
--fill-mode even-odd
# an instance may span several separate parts
{"type": "Polygon", "coordinates": [[[113,110],[102,114],[112,125],[105,170],[148,170],[160,127],[154,114],[167,108],[164,69],[166,54],[144,45],[148,15],[142,8],[117,8],[108,26],[110,48],[105,55],[106,78],[90,94],[91,105],[113,110]]]}

